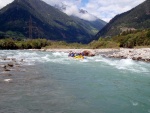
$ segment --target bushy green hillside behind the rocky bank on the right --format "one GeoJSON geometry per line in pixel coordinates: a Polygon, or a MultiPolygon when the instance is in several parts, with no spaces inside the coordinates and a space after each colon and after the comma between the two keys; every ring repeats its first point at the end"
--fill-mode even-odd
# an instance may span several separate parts
{"type": "Polygon", "coordinates": [[[89,44],[90,48],[134,48],[150,46],[150,29],[137,31],[124,31],[122,34],[112,38],[99,38],[89,44]]]}

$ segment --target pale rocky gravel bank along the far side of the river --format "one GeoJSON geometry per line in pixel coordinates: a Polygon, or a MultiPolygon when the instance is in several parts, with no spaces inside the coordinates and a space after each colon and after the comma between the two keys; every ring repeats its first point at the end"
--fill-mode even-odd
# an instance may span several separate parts
{"type": "Polygon", "coordinates": [[[40,49],[40,51],[47,52],[83,52],[88,51],[93,55],[102,55],[108,58],[120,58],[120,59],[133,59],[137,61],[150,62],[150,48],[140,49],[40,49]]]}

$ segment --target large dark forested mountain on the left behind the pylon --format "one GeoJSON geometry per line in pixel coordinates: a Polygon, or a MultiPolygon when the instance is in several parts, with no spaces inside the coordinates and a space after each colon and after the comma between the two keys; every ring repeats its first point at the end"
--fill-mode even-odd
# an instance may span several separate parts
{"type": "Polygon", "coordinates": [[[14,0],[0,10],[0,32],[25,37],[88,43],[92,34],[80,23],[41,0],[14,0]]]}

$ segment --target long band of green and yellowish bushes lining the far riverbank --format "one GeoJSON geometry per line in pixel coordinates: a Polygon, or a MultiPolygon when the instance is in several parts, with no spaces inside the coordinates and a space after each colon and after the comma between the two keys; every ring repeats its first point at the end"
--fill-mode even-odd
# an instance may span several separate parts
{"type": "Polygon", "coordinates": [[[126,31],[120,35],[107,38],[99,38],[89,44],[67,43],[65,41],[51,41],[46,39],[14,39],[5,38],[0,40],[0,49],[41,49],[41,48],[64,48],[64,49],[99,49],[99,48],[134,48],[138,46],[150,46],[150,29],[126,31]]]}

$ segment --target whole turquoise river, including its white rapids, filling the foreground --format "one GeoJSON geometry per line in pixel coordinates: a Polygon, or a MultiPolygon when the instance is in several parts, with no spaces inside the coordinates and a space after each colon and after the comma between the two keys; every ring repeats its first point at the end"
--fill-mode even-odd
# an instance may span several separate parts
{"type": "Polygon", "coordinates": [[[150,113],[150,63],[67,55],[1,50],[24,62],[13,76],[0,72],[0,113],[150,113]]]}

